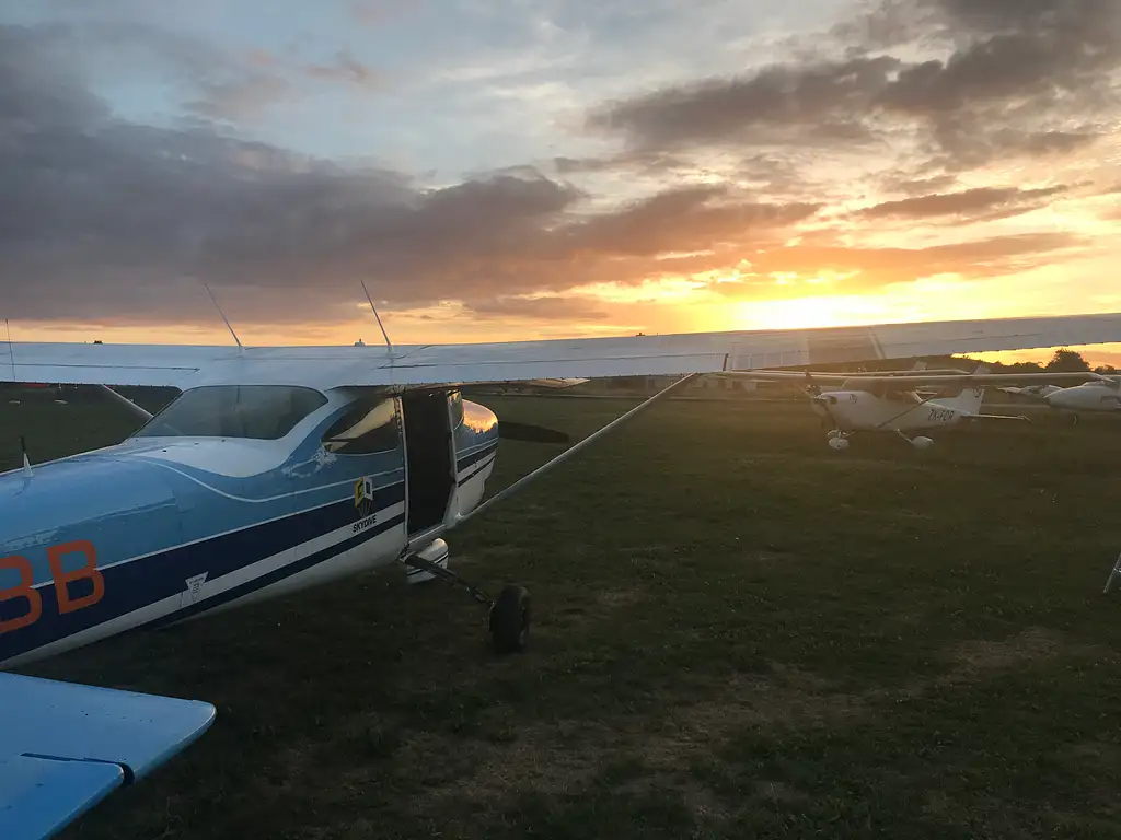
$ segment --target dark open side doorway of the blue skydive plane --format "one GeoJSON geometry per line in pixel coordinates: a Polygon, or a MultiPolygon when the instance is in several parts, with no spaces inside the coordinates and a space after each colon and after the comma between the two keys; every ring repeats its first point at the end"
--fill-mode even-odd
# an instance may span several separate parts
{"type": "Polygon", "coordinates": [[[444,523],[455,489],[455,458],[444,391],[406,392],[405,449],[408,480],[408,533],[430,531],[444,523]]]}

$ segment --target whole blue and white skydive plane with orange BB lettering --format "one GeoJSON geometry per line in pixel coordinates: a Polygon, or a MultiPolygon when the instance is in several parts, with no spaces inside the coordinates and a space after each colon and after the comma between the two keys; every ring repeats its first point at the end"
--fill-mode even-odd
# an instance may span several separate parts
{"type": "MultiPolygon", "coordinates": [[[[528,591],[463,579],[444,538],[695,376],[1121,333],[1114,312],[475,345],[395,346],[382,327],[383,348],[247,347],[222,317],[237,346],[0,344],[0,381],[98,385],[143,421],[41,464],[33,436],[0,474],[0,669],[393,564],[464,589],[494,650],[517,653],[528,591]],[[639,375],[679,379],[484,500],[502,427],[463,386],[639,375]],[[179,394],[152,417],[112,385],[179,394]]],[[[214,708],[0,673],[0,719],[19,721],[0,728],[0,837],[21,840],[151,772],[214,708]]]]}

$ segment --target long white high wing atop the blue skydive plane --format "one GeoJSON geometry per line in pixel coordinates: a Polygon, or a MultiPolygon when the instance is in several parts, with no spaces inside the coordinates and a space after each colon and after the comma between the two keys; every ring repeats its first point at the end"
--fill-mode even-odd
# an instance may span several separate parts
{"type": "Polygon", "coordinates": [[[495,344],[229,347],[0,343],[0,381],[105,385],[409,388],[684,375],[1104,344],[1121,312],[495,344]]]}

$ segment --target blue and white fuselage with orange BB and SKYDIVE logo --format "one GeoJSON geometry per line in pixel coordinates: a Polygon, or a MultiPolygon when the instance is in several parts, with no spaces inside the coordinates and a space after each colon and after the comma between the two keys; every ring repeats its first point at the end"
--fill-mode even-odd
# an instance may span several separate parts
{"type": "Polygon", "coordinates": [[[221,388],[0,475],[0,666],[392,563],[493,468],[497,417],[454,391],[221,388]]]}

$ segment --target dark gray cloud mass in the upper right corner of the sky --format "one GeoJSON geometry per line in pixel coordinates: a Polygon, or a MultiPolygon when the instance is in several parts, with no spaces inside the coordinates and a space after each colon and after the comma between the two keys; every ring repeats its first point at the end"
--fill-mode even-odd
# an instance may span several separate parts
{"type": "Polygon", "coordinates": [[[1118,112],[1113,0],[882,0],[833,36],[843,58],[823,45],[816,56],[794,54],[742,76],[606,102],[589,112],[587,127],[647,155],[854,150],[914,138],[933,166],[954,170],[1078,150],[1110,131],[1118,112]],[[916,52],[943,57],[916,60],[916,52]]]}

